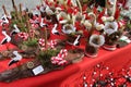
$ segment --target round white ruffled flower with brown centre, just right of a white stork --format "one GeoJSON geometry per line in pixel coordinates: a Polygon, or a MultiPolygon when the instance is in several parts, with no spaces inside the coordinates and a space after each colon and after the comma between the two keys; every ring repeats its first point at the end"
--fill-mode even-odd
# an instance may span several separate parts
{"type": "Polygon", "coordinates": [[[75,27],[72,24],[66,24],[63,25],[62,32],[64,34],[75,33],[75,27]]]}

